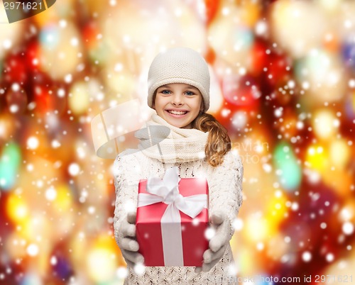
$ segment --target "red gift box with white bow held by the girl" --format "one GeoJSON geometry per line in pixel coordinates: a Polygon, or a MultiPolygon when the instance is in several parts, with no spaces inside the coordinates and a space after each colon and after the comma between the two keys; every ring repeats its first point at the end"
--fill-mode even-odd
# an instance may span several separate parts
{"type": "MultiPolygon", "coordinates": [[[[178,170],[175,169],[175,171],[176,176],[178,176],[178,170]]],[[[147,191],[147,182],[146,179],[139,181],[136,218],[136,237],[139,244],[139,252],[144,257],[144,265],[202,266],[203,253],[208,249],[208,240],[204,236],[209,224],[207,180],[197,178],[179,179],[177,180],[178,186],[175,189],[175,194],[165,196],[165,201],[159,201],[163,198],[158,198],[149,189],[147,191]],[[178,192],[176,191],[180,192],[180,196],[177,196],[178,192]],[[178,211],[180,221],[172,221],[171,216],[173,215],[168,209],[168,207],[171,209],[174,204],[171,199],[172,196],[175,196],[175,199],[178,199],[177,201],[180,201],[179,199],[182,199],[181,196],[183,196],[183,199],[187,199],[188,206],[194,208],[192,211],[198,208],[198,205],[193,201],[195,198],[201,201],[202,197],[206,203],[204,207],[200,207],[202,208],[201,210],[196,210],[198,213],[195,218],[178,211]],[[153,203],[147,206],[140,206],[140,202],[146,197],[153,199],[153,203]]],[[[162,191],[160,187],[158,191],[166,194],[167,189],[162,191]]],[[[182,202],[182,208],[184,208],[184,205],[186,206],[184,203],[182,202]]]]}

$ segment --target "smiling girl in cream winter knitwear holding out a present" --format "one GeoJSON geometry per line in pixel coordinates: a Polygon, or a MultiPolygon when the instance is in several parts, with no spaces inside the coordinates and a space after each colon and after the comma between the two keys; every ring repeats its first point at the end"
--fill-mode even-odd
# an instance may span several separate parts
{"type": "Polygon", "coordinates": [[[114,162],[114,233],[128,264],[125,284],[228,284],[233,266],[229,240],[242,203],[243,166],[230,151],[226,129],[206,113],[209,70],[204,58],[185,47],[157,55],[148,72],[148,106],[156,114],[146,124],[156,131],[138,131],[141,151],[122,152],[114,162]],[[174,166],[181,178],[207,177],[214,237],[204,252],[202,267],[145,267],[137,272],[135,265],[143,263],[135,226],[138,181],[163,178],[174,166]]]}

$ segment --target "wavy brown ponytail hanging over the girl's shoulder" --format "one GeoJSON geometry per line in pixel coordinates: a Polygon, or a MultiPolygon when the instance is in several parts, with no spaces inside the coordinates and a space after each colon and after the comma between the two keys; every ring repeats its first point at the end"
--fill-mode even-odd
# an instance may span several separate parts
{"type": "Polygon", "coordinates": [[[209,132],[206,147],[204,147],[206,160],[212,167],[222,164],[224,155],[231,150],[231,139],[226,128],[209,113],[200,113],[192,121],[192,128],[209,132]]]}

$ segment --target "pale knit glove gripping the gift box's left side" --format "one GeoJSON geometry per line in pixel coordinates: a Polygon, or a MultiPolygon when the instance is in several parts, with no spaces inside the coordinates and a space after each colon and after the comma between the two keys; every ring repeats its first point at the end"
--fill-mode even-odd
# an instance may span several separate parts
{"type": "Polygon", "coordinates": [[[137,263],[143,263],[144,258],[138,252],[139,245],[136,240],[136,212],[127,214],[127,219],[122,222],[119,230],[123,235],[119,245],[126,264],[133,268],[137,263]]]}

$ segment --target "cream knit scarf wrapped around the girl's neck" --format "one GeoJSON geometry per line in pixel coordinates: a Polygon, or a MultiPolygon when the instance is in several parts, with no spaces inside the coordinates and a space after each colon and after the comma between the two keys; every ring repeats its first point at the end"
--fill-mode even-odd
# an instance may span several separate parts
{"type": "Polygon", "coordinates": [[[135,136],[140,140],[138,148],[144,155],[161,162],[175,163],[203,159],[208,132],[177,128],[153,114],[146,128],[138,130],[135,136]]]}

